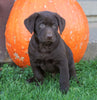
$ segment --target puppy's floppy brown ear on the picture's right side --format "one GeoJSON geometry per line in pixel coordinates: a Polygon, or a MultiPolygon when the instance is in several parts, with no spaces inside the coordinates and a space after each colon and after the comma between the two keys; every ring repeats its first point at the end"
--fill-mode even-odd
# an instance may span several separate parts
{"type": "Polygon", "coordinates": [[[58,25],[59,25],[59,30],[60,33],[62,34],[64,28],[65,28],[65,19],[63,19],[61,16],[59,16],[58,14],[55,14],[57,20],[58,20],[58,25]]]}

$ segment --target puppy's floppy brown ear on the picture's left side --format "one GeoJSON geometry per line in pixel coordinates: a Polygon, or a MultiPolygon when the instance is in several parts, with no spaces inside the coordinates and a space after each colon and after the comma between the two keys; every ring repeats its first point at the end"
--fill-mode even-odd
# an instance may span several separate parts
{"type": "Polygon", "coordinates": [[[34,13],[24,20],[24,24],[30,33],[34,31],[34,24],[37,17],[38,17],[38,13],[34,13]]]}

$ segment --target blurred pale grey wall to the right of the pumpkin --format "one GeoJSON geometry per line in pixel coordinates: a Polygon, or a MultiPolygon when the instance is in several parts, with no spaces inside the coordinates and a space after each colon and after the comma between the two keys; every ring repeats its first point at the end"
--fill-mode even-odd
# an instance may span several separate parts
{"type": "Polygon", "coordinates": [[[97,58],[97,0],[77,0],[83,8],[89,23],[89,44],[83,59],[97,58]]]}

